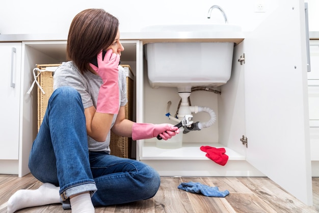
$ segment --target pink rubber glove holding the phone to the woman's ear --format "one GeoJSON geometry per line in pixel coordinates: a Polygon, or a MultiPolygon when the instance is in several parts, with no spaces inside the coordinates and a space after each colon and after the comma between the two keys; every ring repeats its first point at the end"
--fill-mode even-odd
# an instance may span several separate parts
{"type": "Polygon", "coordinates": [[[96,112],[117,114],[119,112],[119,62],[120,55],[109,49],[102,59],[102,50],[97,55],[97,65],[90,66],[103,80],[97,96],[96,112]]]}

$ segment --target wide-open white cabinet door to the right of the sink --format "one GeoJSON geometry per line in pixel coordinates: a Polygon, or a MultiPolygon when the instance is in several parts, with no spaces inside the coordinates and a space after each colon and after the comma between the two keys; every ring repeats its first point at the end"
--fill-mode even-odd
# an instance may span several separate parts
{"type": "Polygon", "coordinates": [[[278,1],[244,52],[247,161],[312,205],[304,1],[278,1]]]}

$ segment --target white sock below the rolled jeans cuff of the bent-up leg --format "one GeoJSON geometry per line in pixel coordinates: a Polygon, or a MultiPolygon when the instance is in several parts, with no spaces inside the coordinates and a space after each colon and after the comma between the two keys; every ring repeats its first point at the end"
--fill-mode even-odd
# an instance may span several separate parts
{"type": "Polygon", "coordinates": [[[94,213],[90,193],[76,195],[70,198],[71,210],[73,213],[94,213]]]}

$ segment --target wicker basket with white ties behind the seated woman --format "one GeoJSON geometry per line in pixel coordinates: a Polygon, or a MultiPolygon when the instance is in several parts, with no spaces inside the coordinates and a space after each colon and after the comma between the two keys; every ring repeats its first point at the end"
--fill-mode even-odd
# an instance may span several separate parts
{"type": "MultiPolygon", "coordinates": [[[[48,100],[53,93],[53,72],[44,71],[49,67],[57,67],[61,64],[40,64],[37,68],[43,71],[38,72],[37,81],[39,82],[41,88],[45,92],[44,94],[38,87],[38,130],[43,121],[43,117],[47,108],[48,100]]],[[[133,118],[133,90],[134,90],[134,80],[132,77],[132,72],[129,65],[121,65],[127,72],[126,77],[126,88],[127,88],[127,99],[128,102],[125,106],[126,118],[132,120],[133,118]]],[[[110,149],[113,155],[119,157],[130,158],[131,157],[131,138],[121,137],[116,135],[111,131],[110,149]]]]}

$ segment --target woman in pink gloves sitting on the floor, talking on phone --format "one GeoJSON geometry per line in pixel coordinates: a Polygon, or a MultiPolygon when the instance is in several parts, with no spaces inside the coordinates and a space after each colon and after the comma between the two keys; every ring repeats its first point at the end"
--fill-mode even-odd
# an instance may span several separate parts
{"type": "Polygon", "coordinates": [[[70,61],[55,72],[55,91],[29,159],[32,174],[44,184],[16,192],[9,213],[61,201],[64,208],[70,202],[72,212],[94,212],[94,206],[148,199],[157,192],[160,178],[154,169],[110,154],[110,129],[133,140],[157,135],[167,140],[179,133],[171,124],[125,119],[118,26],[118,19],[102,9],[84,10],[72,20],[70,61]]]}

